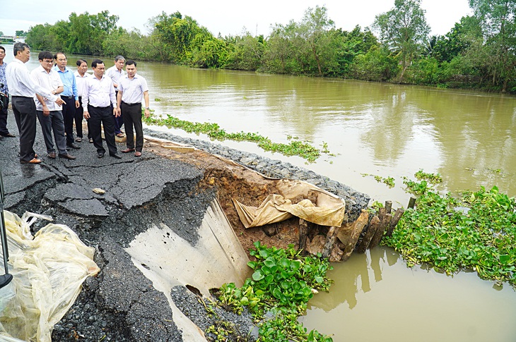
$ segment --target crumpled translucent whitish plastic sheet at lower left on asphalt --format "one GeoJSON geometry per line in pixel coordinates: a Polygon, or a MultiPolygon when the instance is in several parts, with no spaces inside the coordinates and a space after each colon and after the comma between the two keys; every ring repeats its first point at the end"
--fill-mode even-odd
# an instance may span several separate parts
{"type": "Polygon", "coordinates": [[[81,292],[83,281],[98,274],[95,248],[74,231],[48,224],[35,236],[32,213],[19,216],[4,210],[13,281],[0,290],[0,341],[52,341],[54,324],[66,314],[81,292]]]}

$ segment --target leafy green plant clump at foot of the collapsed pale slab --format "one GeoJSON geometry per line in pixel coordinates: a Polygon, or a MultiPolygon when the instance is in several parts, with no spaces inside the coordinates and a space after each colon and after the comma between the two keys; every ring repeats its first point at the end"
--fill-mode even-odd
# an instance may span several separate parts
{"type": "Polygon", "coordinates": [[[328,291],[331,280],[326,272],[332,267],[327,259],[303,257],[290,245],[287,250],[267,248],[259,242],[250,251],[256,260],[248,262],[254,270],[240,288],[226,283],[218,291],[218,300],[226,310],[238,314],[247,307],[259,326],[261,342],[330,342],[330,336],[307,331],[298,317],[306,311],[310,298],[328,291]]]}

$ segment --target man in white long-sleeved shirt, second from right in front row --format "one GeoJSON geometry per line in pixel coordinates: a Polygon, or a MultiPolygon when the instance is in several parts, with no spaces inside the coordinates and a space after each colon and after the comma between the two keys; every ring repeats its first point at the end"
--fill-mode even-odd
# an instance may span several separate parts
{"type": "Polygon", "coordinates": [[[102,123],[110,156],[120,159],[115,144],[115,120],[113,120],[113,116],[119,116],[115,87],[113,87],[111,78],[104,75],[105,66],[103,61],[94,59],[91,62],[91,68],[93,69],[93,77],[86,80],[82,96],[84,118],[90,121],[91,136],[93,145],[97,149],[97,156],[102,158],[106,152],[102,146],[100,129],[102,123]]]}

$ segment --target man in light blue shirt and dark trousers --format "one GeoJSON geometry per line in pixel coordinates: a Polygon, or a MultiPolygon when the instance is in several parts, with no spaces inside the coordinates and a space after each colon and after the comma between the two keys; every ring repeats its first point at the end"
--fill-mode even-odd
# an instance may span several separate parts
{"type": "Polygon", "coordinates": [[[74,121],[75,109],[79,106],[79,97],[77,92],[77,85],[74,71],[71,71],[66,64],[68,63],[66,56],[62,52],[54,54],[56,66],[54,70],[57,71],[63,81],[64,90],[61,93],[61,99],[64,101],[63,118],[64,118],[64,133],[66,133],[66,146],[74,149],[81,148],[74,141],[74,121]]]}

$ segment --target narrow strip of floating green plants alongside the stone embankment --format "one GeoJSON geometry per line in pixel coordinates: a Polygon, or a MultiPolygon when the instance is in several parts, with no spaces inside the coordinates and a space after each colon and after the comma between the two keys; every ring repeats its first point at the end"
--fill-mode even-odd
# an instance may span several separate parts
{"type": "MultiPolygon", "coordinates": [[[[223,128],[218,126],[217,123],[193,123],[190,121],[180,120],[175,116],[168,115],[166,118],[157,118],[150,116],[148,118],[143,117],[143,122],[156,125],[156,126],[168,126],[170,128],[180,128],[187,133],[206,134],[213,140],[233,140],[233,141],[247,141],[256,142],[257,145],[264,149],[264,151],[278,152],[285,156],[299,156],[306,159],[307,162],[315,162],[320,156],[321,151],[310,145],[309,142],[303,142],[298,138],[292,138],[288,136],[290,141],[288,144],[279,142],[272,142],[269,138],[266,138],[258,133],[228,133],[223,128]]],[[[324,153],[329,154],[327,146],[324,147],[324,153]]]]}

